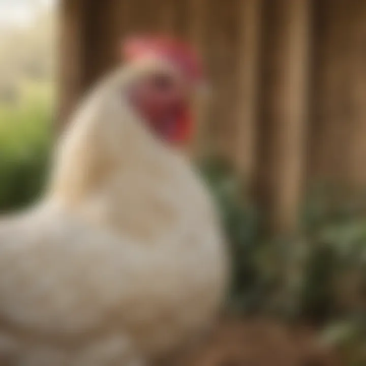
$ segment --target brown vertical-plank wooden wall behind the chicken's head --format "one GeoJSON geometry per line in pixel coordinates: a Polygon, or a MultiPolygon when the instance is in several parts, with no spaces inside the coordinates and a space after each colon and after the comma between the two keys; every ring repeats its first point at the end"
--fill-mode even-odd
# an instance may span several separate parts
{"type": "Polygon", "coordinates": [[[203,54],[212,85],[194,148],[228,158],[270,223],[288,229],[313,180],[366,183],[363,0],[63,0],[60,113],[120,62],[134,33],[203,54]]]}

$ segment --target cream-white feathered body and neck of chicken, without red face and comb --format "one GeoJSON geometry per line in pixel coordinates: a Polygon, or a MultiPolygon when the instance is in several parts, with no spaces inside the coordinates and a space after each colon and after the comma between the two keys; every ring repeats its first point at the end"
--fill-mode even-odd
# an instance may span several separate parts
{"type": "Polygon", "coordinates": [[[215,320],[227,283],[215,209],[130,98],[157,75],[181,77],[156,55],[105,77],[44,199],[0,221],[1,365],[148,365],[215,320]]]}

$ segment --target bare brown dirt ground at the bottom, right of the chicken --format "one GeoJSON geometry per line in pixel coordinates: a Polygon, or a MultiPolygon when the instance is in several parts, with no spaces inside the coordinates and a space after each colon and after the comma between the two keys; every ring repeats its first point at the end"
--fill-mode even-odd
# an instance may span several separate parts
{"type": "Polygon", "coordinates": [[[184,366],[345,366],[315,331],[264,319],[225,320],[184,366]]]}

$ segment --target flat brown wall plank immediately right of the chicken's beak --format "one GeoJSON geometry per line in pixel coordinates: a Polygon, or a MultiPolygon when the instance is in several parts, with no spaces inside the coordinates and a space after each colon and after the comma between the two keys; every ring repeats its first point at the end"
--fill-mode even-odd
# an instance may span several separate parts
{"type": "Polygon", "coordinates": [[[210,143],[214,154],[232,162],[235,155],[238,2],[211,0],[208,11],[208,62],[212,93],[209,107],[210,143]]]}

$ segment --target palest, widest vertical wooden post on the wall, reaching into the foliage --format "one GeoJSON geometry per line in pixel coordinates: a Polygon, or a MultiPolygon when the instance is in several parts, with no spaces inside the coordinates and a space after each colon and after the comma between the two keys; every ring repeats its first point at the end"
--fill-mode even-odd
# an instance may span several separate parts
{"type": "Polygon", "coordinates": [[[298,220],[306,166],[309,0],[275,0],[267,82],[271,127],[269,161],[271,224],[287,231],[298,220]]]}

